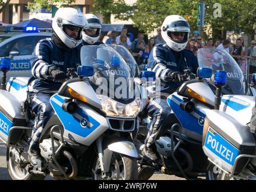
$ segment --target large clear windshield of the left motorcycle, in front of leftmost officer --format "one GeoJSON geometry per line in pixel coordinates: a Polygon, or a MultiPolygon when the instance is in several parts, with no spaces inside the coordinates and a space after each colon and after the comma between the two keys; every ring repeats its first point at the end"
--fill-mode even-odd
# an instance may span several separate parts
{"type": "Polygon", "coordinates": [[[96,88],[96,94],[122,101],[134,98],[135,95],[131,95],[133,89],[130,83],[133,78],[131,78],[130,68],[123,57],[112,47],[105,44],[83,46],[81,64],[94,67],[94,76],[89,79],[96,88]]]}

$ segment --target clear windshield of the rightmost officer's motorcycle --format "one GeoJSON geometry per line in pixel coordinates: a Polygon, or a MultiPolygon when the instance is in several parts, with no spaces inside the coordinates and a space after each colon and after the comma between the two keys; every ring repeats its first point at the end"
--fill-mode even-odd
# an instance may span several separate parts
{"type": "Polygon", "coordinates": [[[222,89],[223,94],[252,95],[242,70],[225,50],[202,48],[198,50],[197,58],[199,67],[212,68],[213,74],[217,70],[227,72],[227,85],[222,89]]]}

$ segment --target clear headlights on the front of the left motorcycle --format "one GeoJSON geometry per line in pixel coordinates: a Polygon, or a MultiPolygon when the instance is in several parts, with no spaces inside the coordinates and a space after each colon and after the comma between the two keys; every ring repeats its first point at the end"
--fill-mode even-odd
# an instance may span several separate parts
{"type": "Polygon", "coordinates": [[[136,98],[132,103],[123,104],[103,95],[97,95],[102,103],[102,110],[108,116],[135,117],[141,109],[141,99],[136,98]]]}

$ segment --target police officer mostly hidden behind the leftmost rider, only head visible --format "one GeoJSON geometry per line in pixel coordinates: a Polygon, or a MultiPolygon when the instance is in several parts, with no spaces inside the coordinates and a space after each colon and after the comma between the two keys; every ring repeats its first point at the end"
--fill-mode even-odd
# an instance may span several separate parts
{"type": "Polygon", "coordinates": [[[83,42],[82,45],[99,45],[103,44],[98,41],[100,38],[100,32],[102,31],[102,22],[94,14],[85,14],[85,18],[89,24],[88,29],[84,29],[82,32],[83,42]]]}

